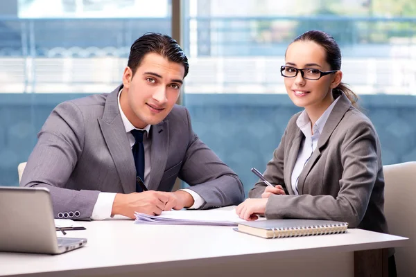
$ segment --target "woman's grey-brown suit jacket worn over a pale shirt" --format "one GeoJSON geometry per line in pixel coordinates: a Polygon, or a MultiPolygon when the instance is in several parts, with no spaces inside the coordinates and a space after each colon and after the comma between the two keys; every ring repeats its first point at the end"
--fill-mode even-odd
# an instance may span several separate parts
{"type": "MultiPolygon", "coordinates": [[[[383,213],[384,177],[381,146],[369,118],[352,107],[344,93],[331,111],[318,145],[298,179],[294,195],[291,175],[304,135],[291,118],[264,176],[289,195],[272,195],[267,218],[304,218],[348,222],[351,228],[388,233],[383,213]]],[[[261,197],[258,182],[249,197],[261,197]]]]}

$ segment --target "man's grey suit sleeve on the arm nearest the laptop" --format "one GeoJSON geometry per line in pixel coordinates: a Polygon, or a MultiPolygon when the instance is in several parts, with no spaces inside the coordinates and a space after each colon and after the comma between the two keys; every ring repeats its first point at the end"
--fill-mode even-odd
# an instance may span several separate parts
{"type": "Polygon", "coordinates": [[[37,135],[21,186],[48,188],[51,192],[53,213],[80,212],[72,219],[89,220],[98,191],[65,188],[80,155],[83,153],[85,123],[80,109],[71,102],[58,105],[37,135]]]}

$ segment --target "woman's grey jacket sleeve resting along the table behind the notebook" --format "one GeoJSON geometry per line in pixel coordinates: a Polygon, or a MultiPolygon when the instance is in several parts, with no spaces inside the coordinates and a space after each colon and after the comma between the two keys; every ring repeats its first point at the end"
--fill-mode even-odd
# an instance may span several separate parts
{"type": "Polygon", "coordinates": [[[340,143],[344,170],[337,197],[272,195],[266,205],[266,217],[337,220],[356,228],[365,215],[376,181],[379,168],[377,141],[370,123],[361,121],[349,128],[340,143]]]}

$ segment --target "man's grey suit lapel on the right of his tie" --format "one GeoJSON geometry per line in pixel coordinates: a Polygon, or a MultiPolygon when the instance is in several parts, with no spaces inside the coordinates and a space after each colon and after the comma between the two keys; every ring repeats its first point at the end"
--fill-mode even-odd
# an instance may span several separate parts
{"type": "Polygon", "coordinates": [[[157,190],[168,161],[169,124],[164,120],[153,125],[151,130],[152,154],[150,161],[150,178],[148,189],[157,190]]]}

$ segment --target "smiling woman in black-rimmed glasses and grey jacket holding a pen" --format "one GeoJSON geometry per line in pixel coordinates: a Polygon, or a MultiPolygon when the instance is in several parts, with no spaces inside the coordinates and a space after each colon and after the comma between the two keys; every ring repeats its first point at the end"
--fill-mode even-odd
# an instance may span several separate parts
{"type": "Polygon", "coordinates": [[[288,46],[285,60],[286,91],[304,111],[289,120],[264,172],[277,186],[257,182],[236,213],[245,220],[263,213],[267,219],[336,220],[388,233],[379,137],[341,82],[338,44],[311,30],[288,46]]]}

